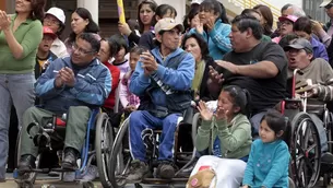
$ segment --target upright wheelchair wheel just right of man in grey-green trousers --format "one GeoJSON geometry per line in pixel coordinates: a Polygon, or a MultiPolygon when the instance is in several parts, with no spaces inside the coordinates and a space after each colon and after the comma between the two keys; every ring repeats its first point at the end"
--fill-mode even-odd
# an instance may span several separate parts
{"type": "Polygon", "coordinates": [[[114,131],[107,114],[97,116],[95,151],[99,179],[103,187],[110,187],[110,157],[114,144],[114,131]]]}

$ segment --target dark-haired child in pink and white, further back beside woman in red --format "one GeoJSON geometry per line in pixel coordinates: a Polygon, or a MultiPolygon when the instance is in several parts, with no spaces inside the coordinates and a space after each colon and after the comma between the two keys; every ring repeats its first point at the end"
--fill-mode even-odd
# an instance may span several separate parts
{"type": "Polygon", "coordinates": [[[127,55],[129,52],[128,43],[124,39],[124,37],[120,34],[112,35],[109,42],[111,44],[116,44],[117,46],[120,46],[119,51],[112,58],[112,64],[117,66],[118,69],[120,70],[120,80],[121,80],[123,75],[130,70],[129,60],[127,58],[127,55]]]}

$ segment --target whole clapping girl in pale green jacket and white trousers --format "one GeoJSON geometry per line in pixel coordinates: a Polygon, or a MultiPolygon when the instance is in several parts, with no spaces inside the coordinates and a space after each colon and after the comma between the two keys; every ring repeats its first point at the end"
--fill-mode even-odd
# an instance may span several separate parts
{"type": "MultiPolygon", "coordinates": [[[[200,173],[200,167],[210,166],[215,175],[218,174],[216,187],[240,186],[246,168],[245,162],[248,160],[252,143],[251,125],[247,118],[248,96],[249,94],[240,87],[230,85],[221,92],[215,113],[215,109],[209,109],[205,103],[199,102],[202,125],[199,127],[194,144],[200,154],[212,154],[215,157],[200,157],[191,176],[195,177],[195,174],[200,173]]],[[[195,180],[190,178],[188,184],[195,187],[194,183],[195,180]]]]}

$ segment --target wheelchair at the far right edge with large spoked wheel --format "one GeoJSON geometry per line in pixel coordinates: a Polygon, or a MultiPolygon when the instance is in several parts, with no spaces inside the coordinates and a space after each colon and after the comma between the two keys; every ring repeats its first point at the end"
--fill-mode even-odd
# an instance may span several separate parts
{"type": "Polygon", "coordinates": [[[323,113],[314,115],[322,120],[328,137],[329,151],[322,153],[318,128],[313,118],[307,113],[307,98],[297,99],[295,97],[297,73],[299,73],[299,70],[296,69],[292,83],[292,98],[285,99],[281,104],[282,113],[289,117],[292,122],[289,176],[298,188],[314,187],[320,176],[322,176],[323,186],[326,187],[331,183],[333,171],[333,114],[324,105],[322,107],[323,113]]]}

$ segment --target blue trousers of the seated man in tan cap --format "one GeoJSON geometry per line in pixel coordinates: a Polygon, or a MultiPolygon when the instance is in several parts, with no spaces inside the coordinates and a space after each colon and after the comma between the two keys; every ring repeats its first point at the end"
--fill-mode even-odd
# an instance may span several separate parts
{"type": "Polygon", "coordinates": [[[158,161],[173,161],[175,131],[180,115],[171,114],[164,119],[152,116],[146,110],[136,110],[130,115],[130,149],[134,160],[146,162],[146,149],[141,138],[144,129],[162,129],[160,143],[158,145],[158,161]]]}

